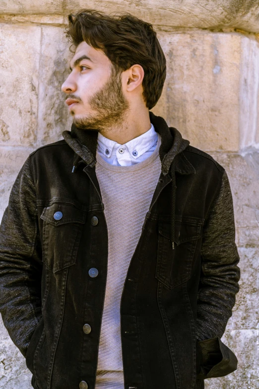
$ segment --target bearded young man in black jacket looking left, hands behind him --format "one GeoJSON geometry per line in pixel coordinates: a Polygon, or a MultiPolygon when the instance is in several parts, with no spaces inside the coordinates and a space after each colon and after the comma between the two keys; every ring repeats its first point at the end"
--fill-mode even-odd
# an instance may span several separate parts
{"type": "Polygon", "coordinates": [[[64,140],[28,156],[0,228],[0,311],[35,389],[192,389],[237,359],[220,338],[240,277],[226,172],[150,109],[151,24],[69,15],[64,140]]]}

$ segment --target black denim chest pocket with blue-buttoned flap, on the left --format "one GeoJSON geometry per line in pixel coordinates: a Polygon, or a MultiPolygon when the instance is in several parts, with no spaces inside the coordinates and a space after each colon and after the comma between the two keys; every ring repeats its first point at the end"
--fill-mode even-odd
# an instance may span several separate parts
{"type": "Polygon", "coordinates": [[[44,220],[42,260],[45,265],[54,273],[73,265],[86,211],[69,203],[53,203],[43,209],[40,217],[44,220]]]}

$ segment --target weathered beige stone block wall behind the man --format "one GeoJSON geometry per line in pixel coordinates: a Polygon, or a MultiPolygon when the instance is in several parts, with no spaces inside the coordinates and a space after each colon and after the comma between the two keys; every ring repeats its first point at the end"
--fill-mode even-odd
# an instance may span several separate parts
{"type": "MultiPolygon", "coordinates": [[[[130,12],[154,25],[167,59],[152,109],[227,170],[242,271],[222,340],[238,370],[206,389],[259,388],[259,0],[1,0],[0,219],[26,157],[62,139],[71,117],[61,85],[71,53],[67,14],[130,12]]],[[[0,322],[0,388],[29,389],[31,373],[0,322]]],[[[187,389],[187,388],[183,388],[187,389]]]]}

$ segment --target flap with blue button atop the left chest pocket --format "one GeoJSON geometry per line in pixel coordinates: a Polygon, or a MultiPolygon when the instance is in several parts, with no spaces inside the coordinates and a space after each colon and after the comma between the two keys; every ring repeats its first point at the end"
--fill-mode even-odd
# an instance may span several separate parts
{"type": "Polygon", "coordinates": [[[86,211],[82,211],[70,203],[53,203],[43,209],[40,218],[52,226],[60,226],[65,223],[83,224],[86,220],[86,211]],[[54,218],[56,212],[62,212],[60,220],[54,218]]]}

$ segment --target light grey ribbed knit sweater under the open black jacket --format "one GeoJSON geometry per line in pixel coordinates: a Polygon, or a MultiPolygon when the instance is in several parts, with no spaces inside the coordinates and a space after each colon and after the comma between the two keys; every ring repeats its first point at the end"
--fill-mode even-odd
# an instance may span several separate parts
{"type": "Polygon", "coordinates": [[[114,166],[96,153],[108,228],[108,273],[99,342],[96,389],[124,389],[120,305],[129,262],[139,240],[160,173],[156,149],[131,166],[114,166]]]}

